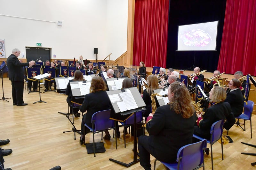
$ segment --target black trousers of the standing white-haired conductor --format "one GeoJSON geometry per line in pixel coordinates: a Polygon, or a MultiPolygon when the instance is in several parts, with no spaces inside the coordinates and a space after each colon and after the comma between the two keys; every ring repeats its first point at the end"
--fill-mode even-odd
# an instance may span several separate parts
{"type": "Polygon", "coordinates": [[[12,81],[12,102],[22,104],[24,81],[12,81]]]}

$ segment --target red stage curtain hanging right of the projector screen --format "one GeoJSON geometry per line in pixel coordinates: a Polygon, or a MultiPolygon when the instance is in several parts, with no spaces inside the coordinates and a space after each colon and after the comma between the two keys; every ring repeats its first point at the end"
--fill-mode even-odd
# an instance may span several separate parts
{"type": "Polygon", "coordinates": [[[218,70],[256,76],[256,1],[227,0],[218,70]]]}

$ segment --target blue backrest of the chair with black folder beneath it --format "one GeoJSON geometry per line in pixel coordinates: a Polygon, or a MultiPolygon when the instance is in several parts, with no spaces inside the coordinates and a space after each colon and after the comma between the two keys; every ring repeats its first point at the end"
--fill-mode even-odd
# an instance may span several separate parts
{"type": "Polygon", "coordinates": [[[96,112],[92,115],[92,123],[94,123],[95,131],[113,128],[115,126],[114,120],[110,118],[110,109],[96,112]]]}

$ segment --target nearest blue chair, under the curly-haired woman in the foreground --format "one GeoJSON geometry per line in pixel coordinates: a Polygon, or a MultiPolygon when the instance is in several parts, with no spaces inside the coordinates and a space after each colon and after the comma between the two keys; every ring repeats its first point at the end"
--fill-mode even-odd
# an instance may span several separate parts
{"type": "MultiPolygon", "coordinates": [[[[169,169],[204,169],[204,152],[206,150],[206,139],[194,144],[182,146],[177,153],[178,163],[165,163],[160,161],[169,169]]],[[[154,162],[154,170],[156,169],[156,161],[154,162]]]]}

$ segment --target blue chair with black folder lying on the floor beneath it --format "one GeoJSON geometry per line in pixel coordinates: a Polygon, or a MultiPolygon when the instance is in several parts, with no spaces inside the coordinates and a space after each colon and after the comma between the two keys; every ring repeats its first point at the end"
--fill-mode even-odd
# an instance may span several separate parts
{"type": "MultiPolygon", "coordinates": [[[[115,128],[114,120],[111,120],[109,118],[110,118],[110,109],[103,110],[103,111],[96,112],[92,115],[92,127],[88,126],[86,123],[84,124],[84,132],[85,132],[85,126],[92,131],[94,157],[96,156],[94,134],[101,132],[101,140],[102,140],[103,131],[115,128]]],[[[85,140],[84,140],[84,144],[85,144],[85,140]]],[[[116,146],[117,146],[117,142],[116,142],[116,146]]]]}

